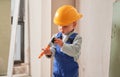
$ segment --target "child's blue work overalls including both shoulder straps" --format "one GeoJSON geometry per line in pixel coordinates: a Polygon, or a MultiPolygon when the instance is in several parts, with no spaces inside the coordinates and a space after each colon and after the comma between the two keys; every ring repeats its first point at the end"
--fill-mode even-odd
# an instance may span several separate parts
{"type": "MultiPolygon", "coordinates": [[[[67,44],[72,44],[77,33],[69,36],[67,44]]],[[[62,39],[62,33],[58,33],[56,38],[62,39]]],[[[78,63],[74,58],[63,53],[59,45],[55,46],[56,52],[54,57],[53,77],[78,77],[78,63]]]]}

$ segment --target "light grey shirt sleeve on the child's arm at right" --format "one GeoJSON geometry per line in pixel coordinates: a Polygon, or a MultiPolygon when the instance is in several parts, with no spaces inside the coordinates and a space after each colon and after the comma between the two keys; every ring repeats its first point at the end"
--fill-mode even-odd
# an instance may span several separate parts
{"type": "Polygon", "coordinates": [[[65,54],[71,57],[79,56],[80,49],[81,49],[81,43],[82,43],[82,38],[79,35],[77,35],[73,41],[73,44],[64,43],[63,46],[61,47],[61,50],[65,54]]]}

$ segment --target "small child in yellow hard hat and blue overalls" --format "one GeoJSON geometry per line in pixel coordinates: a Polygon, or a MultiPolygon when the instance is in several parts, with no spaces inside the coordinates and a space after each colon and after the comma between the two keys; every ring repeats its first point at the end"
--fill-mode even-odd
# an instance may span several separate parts
{"type": "Polygon", "coordinates": [[[46,56],[54,57],[53,77],[79,77],[77,59],[82,39],[74,29],[81,17],[82,14],[71,5],[63,5],[56,11],[54,23],[59,32],[49,43],[50,48],[42,49],[46,56]]]}

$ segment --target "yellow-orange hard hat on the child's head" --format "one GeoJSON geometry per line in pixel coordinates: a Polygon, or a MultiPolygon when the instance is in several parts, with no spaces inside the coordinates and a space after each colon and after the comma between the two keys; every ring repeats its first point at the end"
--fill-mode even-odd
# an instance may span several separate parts
{"type": "Polygon", "coordinates": [[[66,26],[82,17],[82,14],[71,5],[63,5],[57,9],[53,22],[56,25],[66,26]]]}

